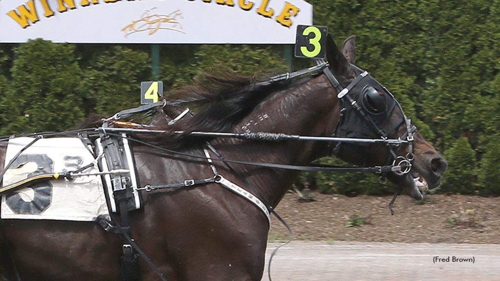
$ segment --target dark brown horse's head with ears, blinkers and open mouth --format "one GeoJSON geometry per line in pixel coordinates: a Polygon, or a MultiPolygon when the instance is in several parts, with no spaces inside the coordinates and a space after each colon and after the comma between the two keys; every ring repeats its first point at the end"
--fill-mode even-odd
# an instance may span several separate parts
{"type": "MultiPolygon", "coordinates": [[[[328,35],[327,58],[342,87],[352,86],[356,77],[367,74],[354,66],[355,37],[347,38],[341,50],[328,35]]],[[[360,166],[403,164],[408,172],[389,172],[387,179],[398,186],[398,194],[422,199],[422,192],[435,188],[447,168],[446,160],[411,125],[394,96],[369,74],[352,86],[343,98],[342,115],[335,136],[401,139],[405,143],[336,143],[333,153],[360,166]],[[356,109],[357,107],[357,109],[356,109]],[[411,163],[411,166],[408,163],[411,163]],[[409,168],[411,167],[411,168],[409,168]]]]}

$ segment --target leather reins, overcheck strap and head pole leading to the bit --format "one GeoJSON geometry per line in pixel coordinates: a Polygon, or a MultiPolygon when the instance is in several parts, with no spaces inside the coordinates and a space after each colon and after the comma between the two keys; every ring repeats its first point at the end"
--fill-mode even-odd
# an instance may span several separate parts
{"type": "MultiPolygon", "coordinates": [[[[350,98],[348,92],[358,83],[362,78],[364,78],[368,73],[366,71],[362,72],[358,75],[349,85],[345,88],[340,85],[338,80],[335,78],[331,70],[328,68],[328,63],[324,62],[322,59],[316,59],[317,65],[298,70],[292,73],[284,73],[274,77],[271,77],[269,80],[263,82],[257,82],[255,85],[268,85],[271,83],[275,83],[278,81],[284,81],[291,78],[295,78],[298,76],[302,76],[304,74],[322,71],[333,87],[337,90],[337,97],[341,100],[348,99],[348,102],[352,105],[355,105],[356,102],[350,98]]],[[[354,66],[355,67],[355,66],[354,66]]],[[[357,68],[357,67],[356,67],[357,68]]],[[[359,68],[357,68],[359,69],[359,68]]],[[[394,99],[395,100],[395,99],[394,99]]],[[[137,108],[125,109],[117,112],[113,116],[104,119],[104,123],[121,123],[135,126],[134,128],[120,128],[120,127],[101,127],[96,130],[102,130],[104,132],[110,133],[134,133],[134,134],[161,134],[164,133],[164,130],[155,130],[151,129],[147,125],[140,125],[135,123],[123,122],[119,121],[120,119],[130,117],[134,114],[156,110],[158,108],[164,107],[165,105],[176,105],[182,103],[189,103],[197,100],[174,100],[174,101],[158,101],[155,103],[150,103],[146,105],[139,106],[137,108]]],[[[401,112],[402,108],[397,103],[397,106],[400,108],[401,112]]],[[[374,131],[379,134],[380,138],[349,138],[349,137],[335,137],[335,136],[302,136],[302,135],[289,135],[283,133],[268,133],[268,132],[249,132],[249,133],[230,133],[230,132],[202,132],[202,131],[194,131],[189,132],[192,136],[200,136],[200,137],[228,137],[228,138],[239,138],[239,139],[248,139],[248,140],[259,140],[259,141],[284,141],[284,140],[316,140],[316,141],[327,141],[327,142],[338,142],[338,143],[385,143],[388,148],[390,155],[389,159],[392,157],[392,161],[387,160],[387,165],[382,166],[373,166],[373,167],[361,167],[361,166],[334,166],[334,165],[313,165],[313,166],[300,166],[300,165],[286,165],[286,164],[276,164],[276,163],[260,163],[260,162],[248,162],[248,161],[236,161],[225,159],[227,162],[237,163],[237,164],[246,164],[246,165],[254,165],[268,168],[279,168],[279,169],[291,169],[291,170],[300,170],[300,171],[323,171],[323,172],[369,172],[380,174],[380,176],[384,176],[387,172],[395,172],[396,174],[402,175],[408,173],[411,169],[411,161],[413,160],[413,136],[412,132],[416,129],[414,126],[411,126],[411,122],[406,115],[403,113],[403,120],[396,126],[399,127],[402,123],[406,125],[407,132],[397,139],[390,139],[387,137],[387,134],[380,129],[373,120],[371,120],[369,114],[363,112],[361,107],[357,107],[359,114],[364,118],[364,120],[373,128],[374,131]],[[405,138],[405,139],[404,139],[405,138]],[[408,145],[408,153],[406,157],[397,156],[392,149],[393,146],[398,146],[400,144],[408,145]]],[[[184,116],[185,112],[182,112],[179,116],[184,116]]],[[[147,115],[150,115],[147,114],[147,115]]],[[[339,120],[340,122],[340,120],[339,120]]],[[[338,124],[337,124],[338,126],[338,124]]],[[[173,133],[184,133],[184,131],[174,131],[173,133]]],[[[131,138],[134,141],[133,138],[131,138]]],[[[167,151],[169,153],[183,155],[194,158],[202,158],[198,156],[194,156],[191,154],[182,153],[175,150],[166,149],[159,146],[154,146],[147,142],[139,141],[142,144],[153,146],[156,148],[161,148],[161,150],[167,151]]],[[[215,159],[217,160],[217,159],[215,159]]]]}

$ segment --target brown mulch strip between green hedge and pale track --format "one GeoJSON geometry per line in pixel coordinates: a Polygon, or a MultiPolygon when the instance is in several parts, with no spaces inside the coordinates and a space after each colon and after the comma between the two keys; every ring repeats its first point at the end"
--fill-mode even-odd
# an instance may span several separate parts
{"type": "MultiPolygon", "coordinates": [[[[314,195],[316,201],[301,203],[295,193],[287,193],[276,207],[295,239],[500,243],[500,197],[432,194],[422,204],[399,196],[394,203],[395,214],[390,215],[387,205],[391,196],[314,195]],[[349,218],[357,215],[366,223],[345,227],[349,218]]],[[[286,228],[272,218],[269,241],[287,237],[286,228]]]]}

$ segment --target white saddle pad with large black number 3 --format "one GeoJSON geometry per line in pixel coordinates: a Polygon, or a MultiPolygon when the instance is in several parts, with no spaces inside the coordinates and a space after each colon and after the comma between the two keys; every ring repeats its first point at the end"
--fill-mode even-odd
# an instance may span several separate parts
{"type": "MultiPolygon", "coordinates": [[[[31,137],[8,141],[4,166],[32,141],[31,137]]],[[[5,172],[3,186],[37,174],[76,170],[94,161],[79,138],[42,138],[24,150],[5,172]]],[[[98,172],[97,165],[84,170],[98,172]]],[[[109,219],[99,175],[79,176],[33,183],[6,192],[1,198],[1,218],[93,221],[109,219]]]]}

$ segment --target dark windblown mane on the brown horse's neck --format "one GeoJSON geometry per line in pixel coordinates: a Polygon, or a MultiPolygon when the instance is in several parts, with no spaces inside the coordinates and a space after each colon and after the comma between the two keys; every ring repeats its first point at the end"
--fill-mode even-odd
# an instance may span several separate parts
{"type": "MultiPolygon", "coordinates": [[[[196,114],[185,116],[173,125],[168,125],[166,121],[154,125],[154,129],[166,131],[160,136],[137,137],[161,146],[186,148],[208,140],[190,136],[192,131],[231,131],[266,97],[286,89],[291,84],[290,81],[258,83],[259,80],[262,79],[257,75],[237,76],[224,73],[214,76],[202,73],[199,78],[193,80],[193,84],[174,89],[168,92],[168,98],[165,98],[167,101],[185,102],[196,114]],[[173,133],[174,131],[183,133],[173,133]]],[[[175,110],[169,106],[163,108],[166,115],[174,118],[175,116],[168,114],[172,111],[175,110]]]]}

